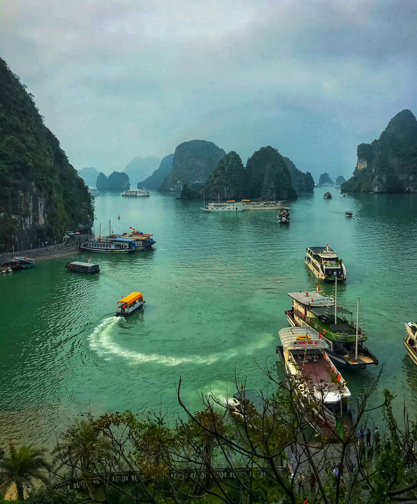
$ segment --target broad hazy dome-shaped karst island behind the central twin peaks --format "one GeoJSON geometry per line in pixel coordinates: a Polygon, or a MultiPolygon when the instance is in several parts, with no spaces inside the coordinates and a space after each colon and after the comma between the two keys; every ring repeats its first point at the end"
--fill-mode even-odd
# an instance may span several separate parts
{"type": "Polygon", "coordinates": [[[158,187],[158,191],[181,191],[184,184],[190,188],[202,187],[225,155],[225,151],[213,142],[183,142],[175,149],[172,171],[158,187]]]}

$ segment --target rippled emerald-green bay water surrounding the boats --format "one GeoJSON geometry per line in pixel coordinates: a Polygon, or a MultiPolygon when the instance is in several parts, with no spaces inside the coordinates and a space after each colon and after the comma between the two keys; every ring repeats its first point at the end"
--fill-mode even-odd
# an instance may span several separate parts
{"type": "Polygon", "coordinates": [[[324,200],[323,193],[299,195],[289,225],[280,225],[275,211],[203,213],[202,202],[177,195],[97,197],[96,233],[101,222],[107,234],[111,219],[116,232],[132,226],[154,233],[156,247],[95,254],[95,276],[64,269],[87,253],[0,275],[0,435],[50,440],[89,409],[162,407],[172,418],[180,375],[193,411],[198,391],[234,392],[235,372],[247,388],[264,388],[258,364],[275,359],[278,331],[288,326],[287,292],[317,285],[304,265],[305,247],[326,242],[347,270],[338,304],[355,310],[361,297],[368,346],[380,363],[360,373],[342,370],[351,391],[374,380],[384,363],[379,390],[416,410],[417,367],[402,338],[404,322],[417,320],[417,196],[342,198],[334,190],[324,200]],[[116,319],[117,300],[136,290],[146,299],[144,313],[116,319]]]}

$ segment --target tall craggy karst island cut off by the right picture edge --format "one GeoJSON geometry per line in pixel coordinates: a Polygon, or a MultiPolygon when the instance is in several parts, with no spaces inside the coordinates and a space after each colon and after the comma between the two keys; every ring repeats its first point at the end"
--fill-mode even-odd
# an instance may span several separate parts
{"type": "Polygon", "coordinates": [[[358,162],[341,190],[349,193],[417,192],[417,121],[410,110],[395,115],[372,144],[358,146],[358,162]]]}

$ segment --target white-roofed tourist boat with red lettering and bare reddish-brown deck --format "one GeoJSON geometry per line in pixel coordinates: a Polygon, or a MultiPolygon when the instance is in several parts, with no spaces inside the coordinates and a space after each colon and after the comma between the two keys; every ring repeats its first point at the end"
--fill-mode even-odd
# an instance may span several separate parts
{"type": "Polygon", "coordinates": [[[286,373],[287,386],[306,420],[331,437],[341,426],[352,426],[351,392],[328,355],[328,345],[312,329],[279,331],[276,353],[286,373]]]}

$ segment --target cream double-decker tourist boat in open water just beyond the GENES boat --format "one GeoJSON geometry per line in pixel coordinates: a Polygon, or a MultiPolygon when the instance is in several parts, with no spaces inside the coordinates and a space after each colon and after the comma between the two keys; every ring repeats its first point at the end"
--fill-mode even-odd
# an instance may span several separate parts
{"type": "Polygon", "coordinates": [[[335,250],[326,246],[307,247],[307,255],[304,258],[307,266],[320,280],[334,282],[341,280],[346,281],[346,269],[343,261],[337,257],[335,250]]]}

